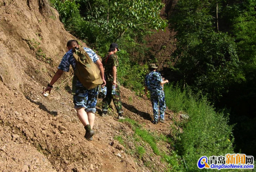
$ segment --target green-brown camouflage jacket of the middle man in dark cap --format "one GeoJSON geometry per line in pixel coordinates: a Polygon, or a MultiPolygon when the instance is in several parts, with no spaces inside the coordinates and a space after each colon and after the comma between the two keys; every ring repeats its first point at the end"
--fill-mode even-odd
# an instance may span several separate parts
{"type": "MultiPolygon", "coordinates": [[[[105,57],[102,58],[102,65],[104,67],[104,74],[105,74],[105,80],[106,81],[113,81],[113,67],[118,67],[118,59],[116,54],[111,55],[105,55],[105,57]]],[[[116,73],[116,80],[117,80],[117,73],[116,73]]]]}

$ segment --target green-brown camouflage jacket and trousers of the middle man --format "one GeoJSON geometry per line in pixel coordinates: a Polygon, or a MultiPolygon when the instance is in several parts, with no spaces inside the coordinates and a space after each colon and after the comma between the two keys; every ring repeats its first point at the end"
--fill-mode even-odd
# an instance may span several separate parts
{"type": "MultiPolygon", "coordinates": [[[[115,94],[112,95],[112,84],[113,84],[113,67],[118,67],[118,59],[116,54],[106,55],[102,59],[102,65],[104,67],[104,74],[106,80],[106,97],[102,100],[102,111],[108,111],[111,100],[113,99],[118,114],[123,113],[122,102],[120,97],[119,82],[116,84],[115,94]]],[[[117,80],[117,74],[116,74],[117,80]]]]}

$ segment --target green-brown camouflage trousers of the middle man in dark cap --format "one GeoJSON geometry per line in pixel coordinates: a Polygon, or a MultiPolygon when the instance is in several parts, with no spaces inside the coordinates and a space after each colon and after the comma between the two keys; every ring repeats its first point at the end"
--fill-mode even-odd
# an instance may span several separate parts
{"type": "Polygon", "coordinates": [[[116,92],[112,94],[112,81],[106,81],[106,97],[102,100],[102,111],[108,111],[109,105],[113,99],[117,113],[123,113],[122,102],[120,97],[119,83],[116,84],[116,92]]]}

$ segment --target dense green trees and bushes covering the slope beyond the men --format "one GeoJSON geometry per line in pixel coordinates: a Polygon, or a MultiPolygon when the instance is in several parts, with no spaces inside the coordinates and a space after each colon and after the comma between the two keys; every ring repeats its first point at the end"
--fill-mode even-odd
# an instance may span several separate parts
{"type": "Polygon", "coordinates": [[[183,127],[175,136],[177,154],[190,171],[197,169],[194,161],[202,154],[218,156],[234,149],[256,156],[255,1],[179,0],[168,20],[159,15],[164,7],[159,0],[51,3],[66,29],[99,55],[111,42],[119,44],[119,81],[139,95],[148,63],[157,63],[144,58],[150,50],[145,37],[168,22],[176,33],[176,51],[164,75],[171,75],[176,86],[165,89],[166,102],[174,112],[189,115],[188,122],[177,123],[183,127]]]}

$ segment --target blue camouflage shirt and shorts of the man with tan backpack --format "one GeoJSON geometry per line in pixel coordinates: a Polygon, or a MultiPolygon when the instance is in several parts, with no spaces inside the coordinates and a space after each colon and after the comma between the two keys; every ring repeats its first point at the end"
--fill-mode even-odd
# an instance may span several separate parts
{"type": "MultiPolygon", "coordinates": [[[[91,57],[94,63],[99,59],[96,53],[91,50],[90,48],[83,48],[88,55],[91,57]]],[[[72,66],[73,70],[75,71],[76,68],[76,61],[73,57],[72,49],[69,50],[63,57],[58,66],[58,69],[69,72],[70,65],[72,66]]],[[[98,96],[98,87],[95,89],[87,90],[83,87],[82,83],[76,79],[75,80],[75,95],[73,96],[73,102],[75,105],[75,109],[84,107],[86,112],[96,112],[96,103],[97,103],[97,96],[98,96]]],[[[74,88],[73,88],[74,89],[74,88]]]]}

